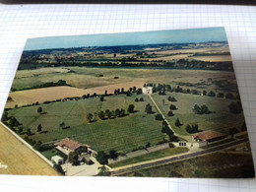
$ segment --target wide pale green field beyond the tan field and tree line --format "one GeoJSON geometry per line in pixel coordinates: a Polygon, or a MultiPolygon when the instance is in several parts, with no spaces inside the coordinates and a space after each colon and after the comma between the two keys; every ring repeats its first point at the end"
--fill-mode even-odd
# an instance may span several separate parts
{"type": "MultiPolygon", "coordinates": [[[[171,69],[134,69],[134,68],[99,68],[99,67],[56,67],[33,70],[18,70],[12,89],[23,90],[48,82],[64,80],[76,88],[88,89],[127,82],[154,82],[156,84],[191,83],[190,89],[222,89],[210,79],[226,80],[235,85],[233,72],[207,70],[171,70],[171,69]],[[52,69],[52,71],[50,71],[52,69]],[[102,77],[99,77],[102,75],[102,77]],[[114,79],[118,77],[118,79],[114,79]],[[196,84],[200,84],[197,86],[196,84]]],[[[135,85],[136,86],[136,85],[135,85]]],[[[183,86],[186,88],[185,86],[183,86]]]]}

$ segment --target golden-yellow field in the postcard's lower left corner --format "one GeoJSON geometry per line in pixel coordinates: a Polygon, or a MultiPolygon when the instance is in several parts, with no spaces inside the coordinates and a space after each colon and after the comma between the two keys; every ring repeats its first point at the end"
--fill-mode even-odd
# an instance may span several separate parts
{"type": "Polygon", "coordinates": [[[7,169],[0,168],[1,174],[58,175],[44,160],[41,160],[21,141],[0,124],[0,162],[7,169]]]}

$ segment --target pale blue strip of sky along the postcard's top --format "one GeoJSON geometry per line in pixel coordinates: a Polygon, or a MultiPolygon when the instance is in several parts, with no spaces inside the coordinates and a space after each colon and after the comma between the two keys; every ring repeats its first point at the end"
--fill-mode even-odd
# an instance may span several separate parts
{"type": "Polygon", "coordinates": [[[205,41],[227,41],[224,28],[154,32],[123,32],[29,38],[27,40],[25,50],[205,41]]]}

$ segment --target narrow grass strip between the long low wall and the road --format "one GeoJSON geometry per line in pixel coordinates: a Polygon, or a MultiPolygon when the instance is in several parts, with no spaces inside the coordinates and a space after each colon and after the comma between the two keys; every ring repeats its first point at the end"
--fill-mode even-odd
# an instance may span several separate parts
{"type": "Polygon", "coordinates": [[[164,158],[164,157],[168,157],[168,156],[174,156],[174,155],[178,155],[178,154],[182,154],[182,153],[186,153],[188,152],[187,148],[167,148],[164,150],[160,150],[157,152],[152,152],[146,155],[142,155],[136,158],[132,158],[132,159],[128,159],[128,160],[121,160],[119,162],[115,162],[112,164],[109,164],[110,167],[115,168],[118,166],[124,166],[124,165],[128,165],[128,164],[133,164],[133,163],[137,163],[137,162],[142,162],[142,161],[146,161],[146,160],[156,160],[156,159],[160,159],[160,158],[164,158]]]}

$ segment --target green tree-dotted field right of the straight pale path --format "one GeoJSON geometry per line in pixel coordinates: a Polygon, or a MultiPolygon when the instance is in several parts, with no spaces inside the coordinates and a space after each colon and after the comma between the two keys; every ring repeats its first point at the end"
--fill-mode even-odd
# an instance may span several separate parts
{"type": "Polygon", "coordinates": [[[242,113],[232,114],[229,111],[228,104],[232,101],[231,99],[180,93],[166,93],[165,96],[155,94],[153,97],[158,102],[160,110],[164,112],[171,127],[180,135],[189,135],[185,129],[187,124],[197,123],[199,130],[211,129],[229,134],[229,128],[236,127],[240,130],[244,122],[242,113]],[[174,96],[177,101],[168,101],[168,96],[174,96]],[[162,104],[162,99],[164,99],[164,105],[162,104]],[[173,110],[174,116],[172,117],[167,116],[170,104],[174,104],[177,107],[177,110],[173,110]],[[195,114],[192,110],[195,104],[206,104],[209,109],[214,112],[202,115],[195,114]],[[180,122],[183,124],[180,128],[175,126],[175,120],[177,118],[179,118],[180,122]]]}

